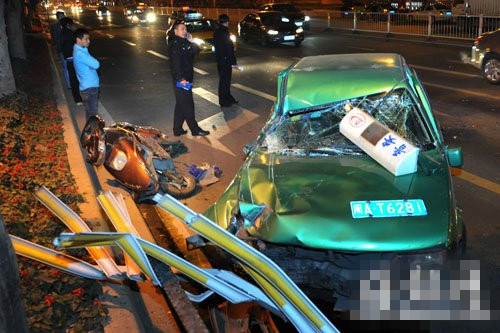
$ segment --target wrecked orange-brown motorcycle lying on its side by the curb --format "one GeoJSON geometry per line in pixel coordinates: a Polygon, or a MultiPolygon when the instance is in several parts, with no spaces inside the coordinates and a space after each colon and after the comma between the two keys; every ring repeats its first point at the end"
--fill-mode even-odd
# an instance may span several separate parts
{"type": "Polygon", "coordinates": [[[95,166],[104,164],[119,183],[133,191],[136,202],[148,200],[160,190],[186,198],[196,188],[191,174],[176,169],[169,154],[173,145],[156,128],[126,122],[106,127],[102,118],[92,116],[82,130],[80,143],[87,161],[95,166]]]}

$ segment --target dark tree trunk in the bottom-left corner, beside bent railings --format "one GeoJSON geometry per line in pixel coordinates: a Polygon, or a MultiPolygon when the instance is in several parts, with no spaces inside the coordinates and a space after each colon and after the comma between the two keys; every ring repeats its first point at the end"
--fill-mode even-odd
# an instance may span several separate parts
{"type": "Polygon", "coordinates": [[[28,332],[16,253],[0,216],[0,332],[28,332]]]}

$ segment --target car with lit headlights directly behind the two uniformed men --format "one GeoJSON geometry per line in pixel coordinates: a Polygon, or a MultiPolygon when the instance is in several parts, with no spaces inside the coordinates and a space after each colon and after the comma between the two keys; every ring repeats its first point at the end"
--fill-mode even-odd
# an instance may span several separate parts
{"type": "MultiPolygon", "coordinates": [[[[219,23],[212,19],[202,18],[185,20],[184,24],[186,25],[187,31],[193,36],[193,43],[196,43],[200,48],[201,54],[210,54],[215,52],[214,31],[219,26],[219,23]]],[[[174,30],[172,25],[166,32],[167,45],[169,37],[173,35],[174,30]]],[[[236,36],[230,34],[229,38],[231,38],[234,50],[236,51],[238,47],[236,36]]]]}

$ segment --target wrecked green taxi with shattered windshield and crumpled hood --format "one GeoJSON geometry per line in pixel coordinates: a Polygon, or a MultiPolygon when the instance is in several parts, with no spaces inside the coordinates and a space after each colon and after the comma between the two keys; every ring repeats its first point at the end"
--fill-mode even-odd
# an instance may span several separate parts
{"type": "Polygon", "coordinates": [[[448,148],[416,73],[397,54],[305,57],[278,75],[278,96],[248,157],[205,215],[254,244],[304,290],[349,296],[361,258],[442,265],[465,251],[448,148]],[[339,132],[353,108],[420,149],[394,176],[339,132]],[[379,209],[377,213],[374,209],[379,209]],[[418,210],[418,214],[417,214],[418,210]]]}

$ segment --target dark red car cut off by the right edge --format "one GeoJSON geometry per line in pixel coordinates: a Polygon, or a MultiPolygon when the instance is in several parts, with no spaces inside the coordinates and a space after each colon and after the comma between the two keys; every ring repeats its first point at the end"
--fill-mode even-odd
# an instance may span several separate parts
{"type": "Polygon", "coordinates": [[[500,84],[500,29],[486,32],[474,40],[471,64],[491,84],[500,84]]]}

